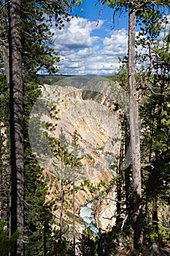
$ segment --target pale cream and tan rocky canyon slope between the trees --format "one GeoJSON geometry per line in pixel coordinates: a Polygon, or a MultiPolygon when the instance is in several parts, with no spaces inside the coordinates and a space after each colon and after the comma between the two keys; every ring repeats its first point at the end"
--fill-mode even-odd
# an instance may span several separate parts
{"type": "MultiPolygon", "coordinates": [[[[82,148],[80,154],[83,155],[82,174],[77,174],[76,181],[76,187],[79,187],[75,194],[77,232],[80,233],[83,228],[82,219],[79,217],[80,206],[94,198],[98,198],[93,205],[96,225],[107,231],[108,225],[115,225],[115,187],[109,189],[109,192],[106,191],[112,181],[111,169],[114,170],[115,158],[120,150],[119,113],[115,111],[115,99],[108,96],[107,91],[110,89],[107,89],[107,84],[102,83],[102,87],[99,84],[99,89],[91,89],[91,85],[85,89],[85,83],[77,84],[79,86],[63,86],[63,83],[60,86],[45,85],[42,88],[42,98],[48,101],[50,107],[55,106],[53,109],[57,109],[59,119],[51,114],[51,109],[43,113],[41,119],[55,124],[56,129],[50,131],[50,135],[55,138],[58,138],[62,128],[70,145],[72,135],[77,130],[78,144],[82,148]]],[[[61,184],[54,162],[58,161],[50,155],[43,165],[50,184],[46,199],[56,198],[53,211],[59,219],[61,204],[58,191],[61,184]]],[[[66,189],[70,192],[65,195],[63,219],[72,230],[72,184],[66,189]]]]}

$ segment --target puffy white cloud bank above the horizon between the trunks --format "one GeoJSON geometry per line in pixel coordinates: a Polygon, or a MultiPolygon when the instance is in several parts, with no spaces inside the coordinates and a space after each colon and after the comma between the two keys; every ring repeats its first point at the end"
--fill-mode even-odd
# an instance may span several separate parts
{"type": "Polygon", "coordinates": [[[104,20],[74,18],[62,31],[55,31],[55,50],[61,56],[60,73],[65,75],[113,74],[119,67],[118,57],[127,54],[128,32],[112,31],[100,37],[104,20]],[[94,36],[95,32],[95,36],[94,36]],[[98,32],[98,33],[97,33],[98,32]]]}

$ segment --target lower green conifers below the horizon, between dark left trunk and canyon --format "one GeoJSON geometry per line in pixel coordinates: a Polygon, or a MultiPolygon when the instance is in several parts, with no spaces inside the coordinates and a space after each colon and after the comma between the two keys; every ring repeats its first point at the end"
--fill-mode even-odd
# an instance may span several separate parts
{"type": "MultiPolygon", "coordinates": [[[[53,249],[53,239],[51,239],[53,224],[52,202],[45,203],[47,196],[47,182],[44,178],[42,167],[34,158],[29,144],[28,121],[31,110],[41,91],[37,83],[25,84],[24,97],[24,148],[25,148],[25,237],[26,255],[43,255],[44,251],[44,230],[46,227],[47,250],[53,249]],[[47,225],[48,224],[48,225],[47,225]]],[[[43,110],[42,110],[43,111],[43,110]]],[[[38,125],[39,120],[34,118],[34,124],[38,125]]],[[[36,138],[37,139],[37,138],[36,138]]],[[[41,145],[42,146],[42,145],[41,145]]]]}

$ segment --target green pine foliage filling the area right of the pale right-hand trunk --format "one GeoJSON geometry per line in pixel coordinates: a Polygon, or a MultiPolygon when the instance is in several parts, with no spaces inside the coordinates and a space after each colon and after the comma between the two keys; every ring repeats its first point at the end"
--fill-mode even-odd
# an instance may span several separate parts
{"type": "MultiPolygon", "coordinates": [[[[114,8],[115,17],[117,10],[120,14],[123,10],[128,10],[131,1],[107,1],[107,4],[114,8]]],[[[140,45],[146,51],[146,53],[136,54],[136,62],[139,63],[139,70],[136,69],[136,88],[139,89],[142,162],[146,166],[144,167],[146,172],[143,172],[143,199],[146,200],[143,200],[146,203],[144,217],[150,219],[147,222],[148,229],[145,227],[145,231],[148,237],[154,238],[158,233],[155,233],[155,227],[152,225],[152,209],[148,212],[147,204],[152,204],[155,197],[161,198],[166,206],[169,204],[169,187],[167,187],[169,184],[169,31],[167,31],[166,18],[169,14],[169,3],[168,1],[152,1],[152,3],[136,1],[134,4],[140,26],[136,47],[140,45]]],[[[123,65],[116,74],[117,81],[123,88],[128,84],[128,70],[125,62],[126,59],[123,60],[123,65]]],[[[123,124],[123,118],[121,124],[123,124]]],[[[126,133],[127,129],[124,125],[123,127],[126,133]]],[[[123,173],[120,174],[119,184],[123,183],[122,177],[123,173]]],[[[125,194],[129,194],[129,190],[130,187],[125,186],[125,194]]],[[[127,200],[127,197],[125,198],[127,200]]],[[[128,214],[130,210],[127,205],[128,214]]],[[[159,208],[158,214],[160,212],[159,208]]],[[[168,230],[165,223],[164,219],[158,225],[158,230],[160,238],[164,236],[167,239],[168,230]]],[[[128,225],[132,225],[129,217],[128,225]]]]}

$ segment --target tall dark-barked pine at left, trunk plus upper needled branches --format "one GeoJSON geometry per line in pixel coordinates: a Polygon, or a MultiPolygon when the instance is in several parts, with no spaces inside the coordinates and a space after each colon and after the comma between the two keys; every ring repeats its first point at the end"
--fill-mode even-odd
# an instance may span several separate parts
{"type": "Polygon", "coordinates": [[[45,67],[49,72],[56,72],[54,64],[55,61],[59,60],[58,53],[55,54],[53,48],[47,45],[47,43],[52,45],[50,27],[52,26],[53,18],[55,18],[56,26],[60,24],[59,29],[61,29],[63,26],[62,19],[68,17],[69,10],[72,10],[72,3],[69,1],[61,1],[60,3],[57,1],[55,3],[53,1],[29,1],[28,3],[28,1],[23,0],[9,2],[9,5],[7,5],[6,1],[0,1],[0,4],[0,26],[2,29],[0,47],[7,83],[9,83],[8,69],[10,69],[11,209],[14,210],[12,210],[10,225],[11,233],[16,228],[20,230],[18,252],[23,254],[23,79],[26,91],[26,86],[28,86],[31,78],[37,78],[37,69],[45,67]],[[9,7],[9,12],[7,12],[7,7],[9,7]],[[15,15],[15,12],[17,15],[15,15]],[[43,15],[44,13],[46,15],[43,15]],[[45,17],[48,17],[47,20],[45,20],[45,17]],[[9,56],[7,54],[8,49],[9,56]],[[17,59],[15,59],[16,56],[17,59]],[[10,67],[7,66],[8,62],[10,67]],[[16,132],[17,125],[18,131],[16,132]],[[20,154],[20,159],[17,158],[17,154],[20,154]],[[18,166],[15,167],[15,165],[18,166]],[[22,169],[20,173],[18,172],[19,168],[20,170],[22,169]],[[20,174],[21,176],[19,177],[20,174]],[[18,181],[20,181],[20,189],[18,189],[19,184],[16,182],[17,177],[18,181]],[[18,197],[20,197],[20,206],[17,206],[15,202],[15,199],[18,200],[15,192],[18,192],[18,197]],[[19,224],[16,224],[16,218],[19,214],[20,227],[19,224]]]}

